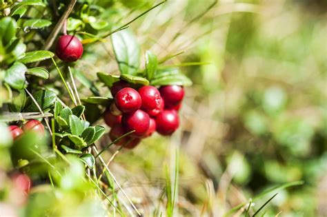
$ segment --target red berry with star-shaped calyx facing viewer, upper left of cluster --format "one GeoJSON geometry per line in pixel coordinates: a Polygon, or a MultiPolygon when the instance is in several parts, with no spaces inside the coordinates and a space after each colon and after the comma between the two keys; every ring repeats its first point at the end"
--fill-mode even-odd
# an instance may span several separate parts
{"type": "Polygon", "coordinates": [[[142,100],[139,92],[133,88],[125,87],[117,92],[115,103],[121,112],[127,113],[138,110],[141,107],[142,100]]]}

